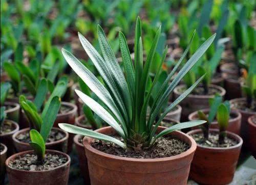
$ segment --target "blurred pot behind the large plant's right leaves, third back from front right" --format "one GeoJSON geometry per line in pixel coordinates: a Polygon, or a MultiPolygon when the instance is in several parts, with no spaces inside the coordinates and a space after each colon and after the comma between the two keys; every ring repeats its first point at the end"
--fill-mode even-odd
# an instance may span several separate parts
{"type": "MultiPolygon", "coordinates": [[[[174,98],[177,99],[185,90],[185,85],[177,86],[174,89],[174,98]]],[[[187,121],[188,115],[192,112],[209,108],[209,98],[213,98],[216,93],[219,93],[224,97],[226,91],[220,86],[210,85],[208,94],[205,94],[203,87],[197,87],[191,94],[180,102],[182,107],[181,121],[187,121]]]]}

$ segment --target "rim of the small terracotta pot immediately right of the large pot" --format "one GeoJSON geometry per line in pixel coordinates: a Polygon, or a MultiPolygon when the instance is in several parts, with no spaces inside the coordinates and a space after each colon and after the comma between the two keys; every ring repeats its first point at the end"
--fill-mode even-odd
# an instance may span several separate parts
{"type": "MultiPolygon", "coordinates": [[[[219,132],[219,129],[210,128],[209,132],[210,133],[211,132],[219,132]]],[[[227,132],[227,136],[231,137],[232,139],[237,140],[238,144],[236,144],[234,146],[230,146],[230,147],[207,147],[207,146],[199,145],[197,143],[197,147],[204,148],[204,149],[209,149],[209,150],[226,151],[226,150],[232,150],[234,148],[238,148],[238,147],[242,146],[243,139],[240,136],[238,136],[237,134],[231,133],[230,131],[226,131],[226,132],[227,132]]],[[[202,133],[202,130],[201,129],[190,130],[190,131],[188,131],[187,135],[191,136],[191,135],[196,134],[196,133],[202,133]]]]}

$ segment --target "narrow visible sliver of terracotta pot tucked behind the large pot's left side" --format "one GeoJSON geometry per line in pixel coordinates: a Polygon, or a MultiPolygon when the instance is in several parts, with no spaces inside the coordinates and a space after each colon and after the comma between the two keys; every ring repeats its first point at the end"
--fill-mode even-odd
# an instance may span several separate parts
{"type": "Polygon", "coordinates": [[[75,143],[76,151],[78,155],[80,174],[83,177],[84,184],[91,184],[86,153],[84,152],[83,144],[79,142],[79,139],[82,139],[82,138],[83,136],[81,135],[76,135],[74,137],[74,143],[75,143]]]}

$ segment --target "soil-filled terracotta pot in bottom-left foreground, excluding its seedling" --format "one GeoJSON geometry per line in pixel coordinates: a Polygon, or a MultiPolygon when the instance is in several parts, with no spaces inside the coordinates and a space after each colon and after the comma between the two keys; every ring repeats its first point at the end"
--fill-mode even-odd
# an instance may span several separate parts
{"type": "Polygon", "coordinates": [[[70,157],[62,152],[46,150],[42,164],[34,151],[16,153],[6,160],[10,185],[12,184],[68,184],[70,157]]]}

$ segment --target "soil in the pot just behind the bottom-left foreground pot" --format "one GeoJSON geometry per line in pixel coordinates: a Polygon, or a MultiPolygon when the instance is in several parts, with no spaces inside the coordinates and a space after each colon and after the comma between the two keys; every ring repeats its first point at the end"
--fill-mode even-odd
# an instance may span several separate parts
{"type": "MultiPolygon", "coordinates": [[[[61,140],[64,137],[65,137],[65,134],[63,134],[61,131],[52,129],[50,131],[50,135],[48,136],[48,139],[47,139],[46,143],[51,143],[51,142],[54,142],[54,141],[58,141],[58,140],[61,140]]],[[[21,142],[24,142],[24,143],[30,142],[31,140],[30,140],[30,136],[29,136],[29,131],[27,131],[26,133],[17,135],[16,139],[21,141],[21,142]]]]}

